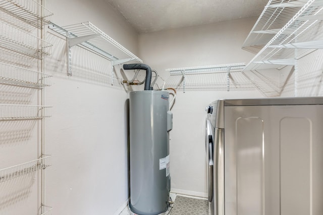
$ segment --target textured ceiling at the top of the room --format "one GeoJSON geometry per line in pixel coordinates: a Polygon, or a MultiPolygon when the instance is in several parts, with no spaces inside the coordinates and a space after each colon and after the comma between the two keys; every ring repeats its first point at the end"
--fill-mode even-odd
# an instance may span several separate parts
{"type": "Polygon", "coordinates": [[[268,0],[105,0],[139,33],[259,16],[268,0]]]}

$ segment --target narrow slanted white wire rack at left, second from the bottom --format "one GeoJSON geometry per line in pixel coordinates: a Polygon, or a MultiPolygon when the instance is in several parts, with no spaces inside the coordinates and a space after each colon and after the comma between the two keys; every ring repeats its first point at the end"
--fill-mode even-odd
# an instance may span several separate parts
{"type": "Polygon", "coordinates": [[[0,170],[0,183],[51,166],[51,155],[0,170]]]}

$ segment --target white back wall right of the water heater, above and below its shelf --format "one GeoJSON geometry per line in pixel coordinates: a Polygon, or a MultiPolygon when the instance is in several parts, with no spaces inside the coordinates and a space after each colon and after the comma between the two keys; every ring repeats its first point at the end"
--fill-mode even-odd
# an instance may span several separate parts
{"type": "MultiPolygon", "coordinates": [[[[256,17],[141,34],[139,53],[165,80],[166,68],[248,62],[253,54],[241,46],[255,21],[256,17]]],[[[220,98],[251,97],[263,96],[256,90],[178,90],[170,132],[173,192],[206,197],[205,107],[220,98]]]]}

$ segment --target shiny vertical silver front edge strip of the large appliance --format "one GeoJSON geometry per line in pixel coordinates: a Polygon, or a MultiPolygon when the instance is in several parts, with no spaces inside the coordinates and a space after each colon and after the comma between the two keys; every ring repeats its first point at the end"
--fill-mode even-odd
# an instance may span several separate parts
{"type": "Polygon", "coordinates": [[[214,154],[214,211],[216,215],[225,215],[225,199],[224,199],[224,129],[216,128],[214,132],[216,140],[216,153],[214,154]]]}

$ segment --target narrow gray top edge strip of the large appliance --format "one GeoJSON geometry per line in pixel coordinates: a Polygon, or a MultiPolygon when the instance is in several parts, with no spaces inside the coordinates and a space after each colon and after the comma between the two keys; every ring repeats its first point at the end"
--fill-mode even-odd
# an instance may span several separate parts
{"type": "Polygon", "coordinates": [[[226,99],[225,106],[259,106],[259,105],[316,105],[323,104],[323,97],[293,97],[272,99],[226,99]]]}

